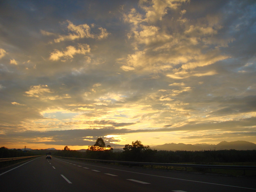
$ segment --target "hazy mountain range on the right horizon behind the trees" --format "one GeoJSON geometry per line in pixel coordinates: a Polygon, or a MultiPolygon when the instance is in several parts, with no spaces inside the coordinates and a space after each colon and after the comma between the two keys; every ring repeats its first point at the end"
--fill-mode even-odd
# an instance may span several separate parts
{"type": "Polygon", "coordinates": [[[256,150],[256,144],[248,141],[222,141],[217,145],[197,143],[194,145],[184,143],[166,143],[163,145],[157,145],[151,147],[156,150],[167,150],[167,151],[201,151],[201,150],[256,150]]]}

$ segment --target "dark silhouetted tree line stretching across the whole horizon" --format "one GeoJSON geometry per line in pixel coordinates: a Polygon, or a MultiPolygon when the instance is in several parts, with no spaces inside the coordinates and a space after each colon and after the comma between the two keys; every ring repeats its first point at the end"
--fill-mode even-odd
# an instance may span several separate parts
{"type": "MultiPolygon", "coordinates": [[[[44,154],[46,150],[33,150],[24,153],[18,150],[8,150],[0,148],[0,158],[30,156],[44,154]]],[[[85,152],[70,150],[65,146],[63,150],[52,150],[52,155],[62,157],[75,157],[86,159],[102,159],[114,161],[133,161],[133,162],[155,162],[155,163],[235,163],[235,162],[256,162],[256,150],[202,150],[202,151],[157,151],[144,146],[141,141],[133,141],[126,144],[123,152],[113,152],[110,145],[99,137],[94,145],[88,147],[85,152]]]]}

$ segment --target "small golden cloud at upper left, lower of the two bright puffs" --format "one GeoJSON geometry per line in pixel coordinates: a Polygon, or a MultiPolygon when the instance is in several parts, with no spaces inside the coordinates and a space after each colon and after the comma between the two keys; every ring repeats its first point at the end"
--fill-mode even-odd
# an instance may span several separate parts
{"type": "Polygon", "coordinates": [[[86,55],[90,52],[90,46],[87,44],[78,44],[77,48],[74,46],[66,47],[65,51],[59,51],[55,49],[54,52],[50,54],[50,60],[58,61],[62,59],[62,61],[66,61],[68,59],[72,59],[76,54],[86,55]]]}

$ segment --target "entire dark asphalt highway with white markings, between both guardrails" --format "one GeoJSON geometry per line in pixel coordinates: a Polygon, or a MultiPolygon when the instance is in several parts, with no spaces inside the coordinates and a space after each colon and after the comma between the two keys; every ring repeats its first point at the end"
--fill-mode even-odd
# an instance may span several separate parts
{"type": "Polygon", "coordinates": [[[1,191],[256,192],[255,178],[173,172],[52,156],[0,171],[1,191]]]}

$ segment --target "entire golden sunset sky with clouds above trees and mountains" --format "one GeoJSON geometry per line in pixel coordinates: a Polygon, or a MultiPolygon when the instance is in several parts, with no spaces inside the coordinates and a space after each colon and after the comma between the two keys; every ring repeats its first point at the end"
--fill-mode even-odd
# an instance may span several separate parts
{"type": "Polygon", "coordinates": [[[0,1],[0,146],[256,143],[256,1],[0,1]]]}

